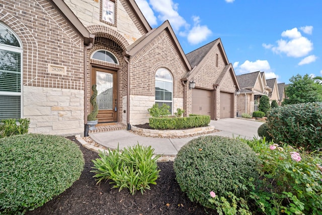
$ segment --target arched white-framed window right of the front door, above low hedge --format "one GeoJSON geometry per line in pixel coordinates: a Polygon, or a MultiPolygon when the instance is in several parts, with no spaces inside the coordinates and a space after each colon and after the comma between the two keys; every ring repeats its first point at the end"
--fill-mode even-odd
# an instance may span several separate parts
{"type": "Polygon", "coordinates": [[[159,106],[170,106],[172,114],[173,80],[170,72],[165,68],[159,68],[155,74],[155,103],[159,106]]]}

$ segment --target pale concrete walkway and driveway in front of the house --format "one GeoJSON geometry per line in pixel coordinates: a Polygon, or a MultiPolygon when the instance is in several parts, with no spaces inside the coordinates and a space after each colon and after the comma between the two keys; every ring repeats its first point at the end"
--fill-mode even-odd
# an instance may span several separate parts
{"type": "MultiPolygon", "coordinates": [[[[247,139],[253,139],[254,137],[257,137],[257,129],[261,124],[262,122],[239,118],[226,118],[216,121],[211,120],[210,125],[214,125],[215,129],[220,131],[207,135],[227,137],[240,136],[247,139]]],[[[196,138],[196,136],[186,138],[145,137],[136,135],[127,130],[90,133],[90,137],[98,144],[110,149],[116,149],[118,145],[119,149],[123,149],[139,143],[142,146],[151,146],[154,149],[155,154],[162,154],[164,156],[177,155],[182,146],[191,139],[196,138]]]]}

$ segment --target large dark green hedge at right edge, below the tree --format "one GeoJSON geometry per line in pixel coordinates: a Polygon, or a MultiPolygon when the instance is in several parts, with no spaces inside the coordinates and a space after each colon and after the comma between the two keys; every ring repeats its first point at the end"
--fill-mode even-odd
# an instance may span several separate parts
{"type": "Polygon", "coordinates": [[[321,149],[322,103],[302,103],[272,109],[267,125],[274,142],[314,151],[321,149]]]}

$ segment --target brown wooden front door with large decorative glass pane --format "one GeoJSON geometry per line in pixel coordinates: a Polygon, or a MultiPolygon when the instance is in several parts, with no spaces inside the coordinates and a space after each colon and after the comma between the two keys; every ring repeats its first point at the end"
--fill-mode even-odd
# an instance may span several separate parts
{"type": "MultiPolygon", "coordinates": [[[[97,85],[97,105],[99,122],[117,121],[117,72],[93,67],[92,83],[97,85]]],[[[93,92],[92,92],[93,93],[93,92]]]]}

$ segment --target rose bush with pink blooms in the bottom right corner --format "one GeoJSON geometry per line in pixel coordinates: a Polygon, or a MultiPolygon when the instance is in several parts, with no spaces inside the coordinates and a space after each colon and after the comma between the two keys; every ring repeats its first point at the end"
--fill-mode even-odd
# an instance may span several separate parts
{"type": "Polygon", "coordinates": [[[261,159],[261,180],[248,199],[254,214],[322,214],[322,154],[300,152],[264,140],[243,140],[261,159]]]}

